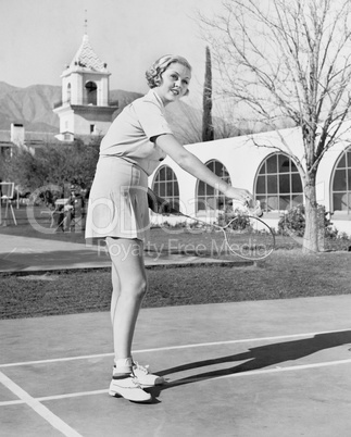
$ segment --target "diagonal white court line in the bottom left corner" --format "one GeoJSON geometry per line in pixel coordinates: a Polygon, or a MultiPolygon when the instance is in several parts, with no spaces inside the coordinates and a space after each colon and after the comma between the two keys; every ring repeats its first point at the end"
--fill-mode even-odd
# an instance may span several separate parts
{"type": "Polygon", "coordinates": [[[40,403],[37,399],[28,395],[23,388],[10,379],[7,375],[0,372],[0,383],[4,385],[10,391],[22,399],[32,410],[45,419],[51,426],[61,432],[66,437],[82,437],[75,429],[71,428],[59,416],[53,414],[47,407],[40,403]]]}

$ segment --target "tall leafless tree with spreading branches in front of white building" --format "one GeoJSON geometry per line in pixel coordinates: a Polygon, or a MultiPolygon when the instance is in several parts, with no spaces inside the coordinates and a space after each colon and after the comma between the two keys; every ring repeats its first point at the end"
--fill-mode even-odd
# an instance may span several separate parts
{"type": "Polygon", "coordinates": [[[225,0],[223,8],[200,16],[221,92],[265,130],[301,128],[303,158],[280,140],[303,179],[303,251],[318,251],[316,172],[350,126],[351,1],[225,0]]]}

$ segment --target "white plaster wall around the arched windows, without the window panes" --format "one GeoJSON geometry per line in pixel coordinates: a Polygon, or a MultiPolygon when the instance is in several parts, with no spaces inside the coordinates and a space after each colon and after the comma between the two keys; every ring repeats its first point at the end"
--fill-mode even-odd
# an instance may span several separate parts
{"type": "MultiPolygon", "coordinates": [[[[327,151],[319,164],[317,172],[317,200],[318,203],[326,207],[326,211],[330,210],[330,190],[333,170],[340,153],[349,146],[346,140],[327,151]]],[[[299,128],[281,129],[279,132],[261,133],[252,136],[242,136],[201,142],[186,146],[186,148],[196,154],[203,163],[210,160],[221,161],[227,168],[231,184],[234,186],[246,188],[251,192],[254,191],[254,183],[256,172],[260,164],[269,154],[276,152],[276,148],[291,155],[294,154],[303,166],[303,143],[299,128]]],[[[183,212],[188,215],[195,214],[195,197],[197,179],[183,171],[171,158],[166,158],[160,165],[168,165],[174,171],[178,184],[180,203],[183,212]]],[[[149,186],[152,186],[156,171],[149,177],[149,186]]],[[[333,217],[334,218],[334,217],[333,217]]],[[[342,232],[351,235],[351,216],[343,215],[341,218],[336,217],[335,226],[342,232]]],[[[154,220],[160,220],[154,217],[154,220]]],[[[172,218],[166,217],[167,222],[172,218]]],[[[176,218],[174,218],[176,220],[176,218]]],[[[178,220],[178,218],[177,218],[178,220]]],[[[277,213],[266,213],[265,220],[273,227],[277,226],[279,215],[277,213]]]]}

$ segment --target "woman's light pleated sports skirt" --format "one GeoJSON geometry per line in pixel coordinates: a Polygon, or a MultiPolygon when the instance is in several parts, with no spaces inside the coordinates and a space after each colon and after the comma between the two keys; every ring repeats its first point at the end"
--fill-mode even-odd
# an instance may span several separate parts
{"type": "Polygon", "coordinates": [[[100,157],[91,186],[85,237],[146,240],[150,229],[148,176],[117,157],[100,157]]]}

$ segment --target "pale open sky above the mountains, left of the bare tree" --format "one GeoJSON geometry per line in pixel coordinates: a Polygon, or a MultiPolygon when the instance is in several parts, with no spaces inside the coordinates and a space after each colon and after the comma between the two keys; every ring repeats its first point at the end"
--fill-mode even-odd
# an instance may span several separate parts
{"type": "MultiPolygon", "coordinates": [[[[210,16],[222,0],[0,0],[0,82],[61,85],[60,75],[85,33],[111,72],[111,89],[146,92],[146,68],[165,53],[193,66],[203,85],[205,41],[197,10],[210,16]]],[[[191,90],[191,88],[190,88],[191,90]]],[[[195,95],[193,95],[195,97],[195,95]]]]}

